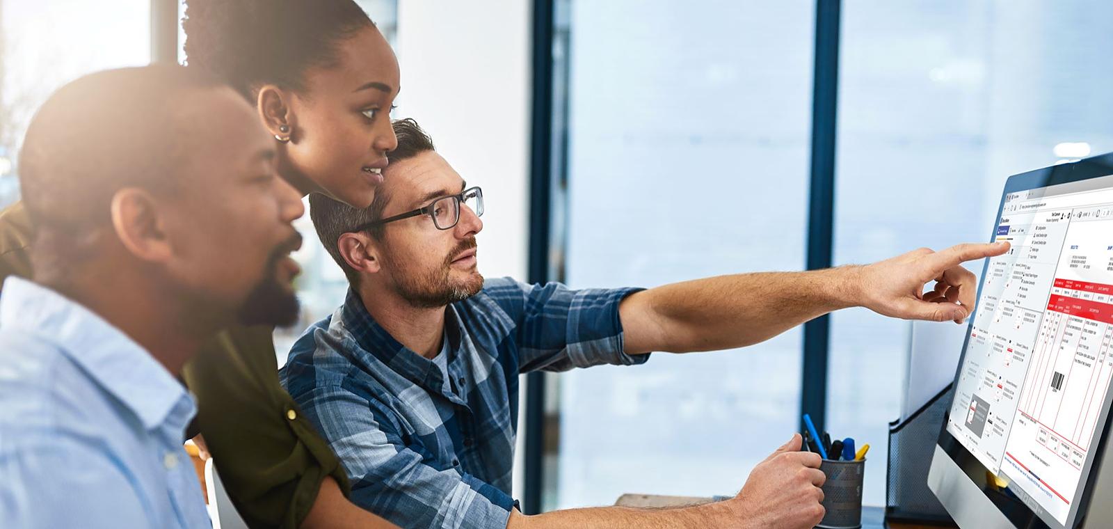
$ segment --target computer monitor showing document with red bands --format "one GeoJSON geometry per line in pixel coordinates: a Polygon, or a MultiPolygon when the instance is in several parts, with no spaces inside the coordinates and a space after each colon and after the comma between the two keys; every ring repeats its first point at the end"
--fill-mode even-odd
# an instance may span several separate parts
{"type": "Polygon", "coordinates": [[[993,239],[928,487],[965,528],[1113,527],[1113,154],[1009,177],[993,239]]]}

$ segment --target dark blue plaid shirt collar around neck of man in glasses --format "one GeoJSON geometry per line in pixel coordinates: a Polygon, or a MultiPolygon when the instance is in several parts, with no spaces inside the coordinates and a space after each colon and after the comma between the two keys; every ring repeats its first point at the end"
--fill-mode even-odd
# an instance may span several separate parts
{"type": "MultiPolygon", "coordinates": [[[[367,312],[367,307],[363,304],[363,300],[359,298],[359,294],[352,288],[348,288],[344,306],[341,310],[341,325],[344,326],[359,345],[357,355],[371,354],[395,373],[398,373],[425,391],[442,395],[457,404],[466,404],[467,394],[464,388],[466,384],[456,384],[459,394],[445,393],[444,373],[441,372],[441,369],[432,360],[406,347],[395,340],[391,333],[386,332],[371,316],[371,313],[367,312]]],[[[447,364],[452,365],[460,356],[457,352],[460,351],[461,336],[464,333],[460,319],[456,315],[456,308],[453,305],[445,307],[444,332],[449,336],[447,364]]],[[[358,361],[358,359],[353,360],[358,361]]],[[[365,366],[367,365],[366,362],[361,363],[365,366]]]]}

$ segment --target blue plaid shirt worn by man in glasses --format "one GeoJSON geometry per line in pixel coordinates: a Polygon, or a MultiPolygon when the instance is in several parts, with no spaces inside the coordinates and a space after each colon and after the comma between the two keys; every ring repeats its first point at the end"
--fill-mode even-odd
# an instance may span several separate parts
{"type": "Polygon", "coordinates": [[[344,462],[356,504],[407,528],[503,529],[518,374],[646,362],[622,352],[619,302],[636,291],[490,280],[445,311],[449,384],[349,291],[279,376],[344,462]]]}

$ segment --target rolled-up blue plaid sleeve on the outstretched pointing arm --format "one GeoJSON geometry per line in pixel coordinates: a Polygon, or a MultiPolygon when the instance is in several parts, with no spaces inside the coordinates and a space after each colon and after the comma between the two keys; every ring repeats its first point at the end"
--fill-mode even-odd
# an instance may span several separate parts
{"type": "Polygon", "coordinates": [[[619,304],[643,288],[570,290],[561,283],[528,285],[491,280],[486,295],[515,321],[521,372],[593,365],[636,365],[649,354],[626,354],[619,304]]]}

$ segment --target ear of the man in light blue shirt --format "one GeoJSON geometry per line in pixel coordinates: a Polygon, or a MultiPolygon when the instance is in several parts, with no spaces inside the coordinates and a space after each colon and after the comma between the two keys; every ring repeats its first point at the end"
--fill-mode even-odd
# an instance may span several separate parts
{"type": "Polygon", "coordinates": [[[166,262],[174,254],[157,203],[145,189],[125,187],[116,192],[110,207],[116,237],[137,258],[166,262]]]}

